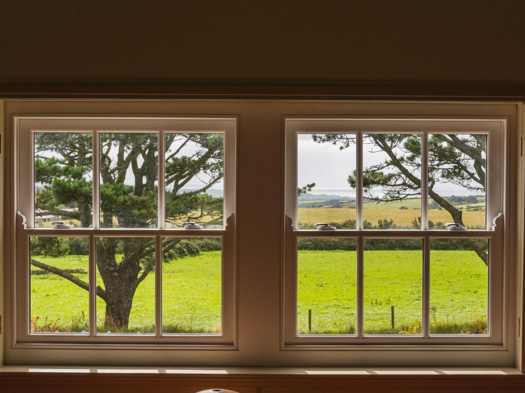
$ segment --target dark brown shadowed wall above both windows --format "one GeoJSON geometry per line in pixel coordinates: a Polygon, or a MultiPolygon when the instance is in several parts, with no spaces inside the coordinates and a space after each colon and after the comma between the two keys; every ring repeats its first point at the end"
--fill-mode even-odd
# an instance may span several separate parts
{"type": "Polygon", "coordinates": [[[525,86],[523,0],[4,0],[0,83],[525,86]]]}

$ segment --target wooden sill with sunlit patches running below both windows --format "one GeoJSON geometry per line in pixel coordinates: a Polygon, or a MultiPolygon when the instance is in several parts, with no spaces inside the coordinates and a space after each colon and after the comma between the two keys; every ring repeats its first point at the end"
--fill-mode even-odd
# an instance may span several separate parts
{"type": "Polygon", "coordinates": [[[222,388],[239,393],[284,392],[522,392],[525,375],[516,368],[341,368],[341,367],[108,367],[108,366],[5,366],[0,368],[2,391],[75,391],[98,393],[197,392],[222,388]],[[120,387],[120,388],[119,388],[120,387]],[[74,390],[72,390],[74,389],[74,390]],[[144,390],[148,389],[148,390],[144,390]],[[459,389],[459,390],[458,390],[459,389]]]}

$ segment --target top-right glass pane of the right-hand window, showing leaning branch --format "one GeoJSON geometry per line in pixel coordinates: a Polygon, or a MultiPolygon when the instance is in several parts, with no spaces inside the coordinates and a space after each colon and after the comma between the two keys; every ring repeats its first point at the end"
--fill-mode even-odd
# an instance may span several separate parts
{"type": "Polygon", "coordinates": [[[485,229],[487,135],[428,136],[428,228],[485,229]]]}

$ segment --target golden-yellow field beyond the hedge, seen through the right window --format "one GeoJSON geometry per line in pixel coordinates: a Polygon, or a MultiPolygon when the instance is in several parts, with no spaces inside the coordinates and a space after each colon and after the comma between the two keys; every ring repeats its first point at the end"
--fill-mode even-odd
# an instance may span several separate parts
{"type": "MultiPolygon", "coordinates": [[[[412,227],[412,220],[421,215],[420,210],[400,209],[363,209],[363,220],[377,225],[378,220],[394,220],[397,226],[412,227]]],[[[318,222],[343,222],[355,220],[355,209],[333,209],[333,208],[300,208],[297,209],[298,222],[303,224],[315,224],[318,222]]],[[[428,219],[434,223],[452,222],[452,217],[446,210],[429,210],[428,219]]],[[[463,222],[468,226],[485,226],[485,212],[463,212],[463,222]]]]}

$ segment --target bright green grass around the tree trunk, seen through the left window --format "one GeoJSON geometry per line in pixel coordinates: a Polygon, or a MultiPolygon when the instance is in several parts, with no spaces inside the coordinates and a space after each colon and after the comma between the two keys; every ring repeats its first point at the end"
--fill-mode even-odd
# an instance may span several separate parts
{"type": "MultiPolygon", "coordinates": [[[[87,255],[38,256],[35,259],[67,269],[74,276],[88,281],[87,255]]],[[[165,333],[220,333],[220,270],[220,251],[202,252],[197,256],[163,263],[162,316],[165,333]]],[[[36,330],[53,330],[55,326],[60,331],[88,331],[88,292],[62,277],[45,273],[31,266],[31,321],[36,330]],[[46,328],[46,325],[49,326],[46,328]]],[[[103,288],[98,273],[97,285],[103,288]]],[[[129,329],[125,332],[155,331],[154,289],[155,272],[152,271],[135,292],[129,329]]],[[[103,333],[111,331],[104,326],[105,310],[106,303],[97,297],[97,329],[103,333]]]]}

